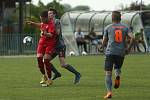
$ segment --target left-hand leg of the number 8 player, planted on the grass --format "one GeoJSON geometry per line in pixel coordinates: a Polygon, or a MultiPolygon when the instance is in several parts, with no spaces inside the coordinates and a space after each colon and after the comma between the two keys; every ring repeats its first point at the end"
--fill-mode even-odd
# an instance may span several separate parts
{"type": "Polygon", "coordinates": [[[104,96],[105,99],[112,97],[112,68],[113,68],[113,57],[111,55],[105,58],[105,86],[107,94],[104,96]]]}

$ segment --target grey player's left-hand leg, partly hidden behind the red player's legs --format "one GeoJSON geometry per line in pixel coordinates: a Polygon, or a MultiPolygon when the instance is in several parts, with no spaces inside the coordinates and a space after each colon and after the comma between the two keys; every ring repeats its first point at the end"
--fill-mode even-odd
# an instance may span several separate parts
{"type": "MultiPolygon", "coordinates": [[[[57,56],[57,53],[53,53],[50,60],[54,59],[56,56],[57,56]]],[[[52,80],[55,80],[55,79],[61,77],[60,72],[54,67],[54,65],[52,63],[51,63],[51,70],[54,73],[52,80]]]]}

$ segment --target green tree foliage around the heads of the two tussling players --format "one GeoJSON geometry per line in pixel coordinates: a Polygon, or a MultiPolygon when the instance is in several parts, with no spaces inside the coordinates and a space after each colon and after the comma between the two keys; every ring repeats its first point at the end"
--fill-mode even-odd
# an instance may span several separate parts
{"type": "MultiPolygon", "coordinates": [[[[56,2],[55,0],[48,3],[47,5],[44,5],[43,2],[41,2],[41,0],[39,0],[38,5],[35,6],[33,4],[31,5],[27,5],[30,8],[30,16],[29,18],[27,18],[26,20],[32,20],[35,22],[40,22],[39,16],[40,16],[40,12],[43,9],[49,9],[50,7],[55,8],[58,11],[58,16],[57,18],[60,18],[62,16],[62,14],[64,14],[64,10],[63,10],[63,6],[59,3],[56,2]]],[[[25,33],[39,33],[40,31],[32,26],[29,26],[27,24],[24,24],[24,32],[25,33]]]]}

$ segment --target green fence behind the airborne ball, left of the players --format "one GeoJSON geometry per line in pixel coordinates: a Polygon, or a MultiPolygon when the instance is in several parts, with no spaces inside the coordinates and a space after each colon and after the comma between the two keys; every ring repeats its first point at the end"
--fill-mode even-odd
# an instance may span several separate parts
{"type": "Polygon", "coordinates": [[[36,53],[38,36],[30,34],[33,37],[32,45],[25,45],[23,38],[27,34],[0,34],[0,55],[30,55],[36,53]]]}

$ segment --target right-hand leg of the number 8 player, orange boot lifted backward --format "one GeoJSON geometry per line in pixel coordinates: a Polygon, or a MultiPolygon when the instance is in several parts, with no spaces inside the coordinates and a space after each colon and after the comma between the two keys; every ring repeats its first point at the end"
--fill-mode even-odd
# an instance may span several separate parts
{"type": "Polygon", "coordinates": [[[120,75],[121,75],[121,67],[124,61],[124,57],[116,56],[115,57],[115,66],[114,66],[114,72],[115,72],[115,84],[114,88],[117,89],[120,86],[120,75]]]}

